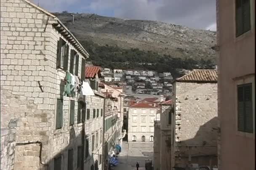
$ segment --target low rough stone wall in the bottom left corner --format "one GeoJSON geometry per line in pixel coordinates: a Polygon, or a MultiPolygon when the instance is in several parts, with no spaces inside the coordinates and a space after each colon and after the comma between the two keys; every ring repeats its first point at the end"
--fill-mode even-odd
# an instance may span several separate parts
{"type": "Polygon", "coordinates": [[[1,129],[1,170],[14,169],[16,129],[1,129]]]}

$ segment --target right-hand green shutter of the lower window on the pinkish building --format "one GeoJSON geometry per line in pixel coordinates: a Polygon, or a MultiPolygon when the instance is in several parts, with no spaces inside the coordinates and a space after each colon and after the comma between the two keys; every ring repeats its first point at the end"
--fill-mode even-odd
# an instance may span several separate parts
{"type": "Polygon", "coordinates": [[[245,131],[253,133],[253,105],[252,105],[252,85],[244,86],[244,106],[245,106],[245,131]]]}

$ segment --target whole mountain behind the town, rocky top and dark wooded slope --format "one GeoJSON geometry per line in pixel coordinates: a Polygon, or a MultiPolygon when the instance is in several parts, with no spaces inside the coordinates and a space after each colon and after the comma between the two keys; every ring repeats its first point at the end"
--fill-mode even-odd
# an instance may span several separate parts
{"type": "MultiPolygon", "coordinates": [[[[97,64],[105,64],[106,59],[107,62],[126,62],[126,65],[130,61],[140,64],[170,62],[166,59],[180,60],[180,63],[184,60],[190,63],[193,61],[193,65],[206,62],[212,66],[216,62],[216,52],[213,48],[216,46],[215,31],[88,13],[74,14],[72,23],[71,13],[53,14],[82,42],[91,60],[97,64]]],[[[176,66],[173,62],[170,64],[176,66]]]]}

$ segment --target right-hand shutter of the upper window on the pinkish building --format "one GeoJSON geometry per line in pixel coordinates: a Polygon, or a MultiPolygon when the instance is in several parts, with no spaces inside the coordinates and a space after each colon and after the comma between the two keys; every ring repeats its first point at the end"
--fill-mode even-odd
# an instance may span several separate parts
{"type": "Polygon", "coordinates": [[[243,33],[251,29],[250,0],[243,0],[243,33]]]}

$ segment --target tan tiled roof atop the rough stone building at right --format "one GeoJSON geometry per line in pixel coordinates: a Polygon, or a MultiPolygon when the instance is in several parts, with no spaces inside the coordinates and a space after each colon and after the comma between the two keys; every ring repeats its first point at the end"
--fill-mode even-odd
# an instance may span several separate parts
{"type": "Polygon", "coordinates": [[[217,82],[218,75],[216,70],[195,69],[187,75],[176,79],[178,82],[217,82]]]}

